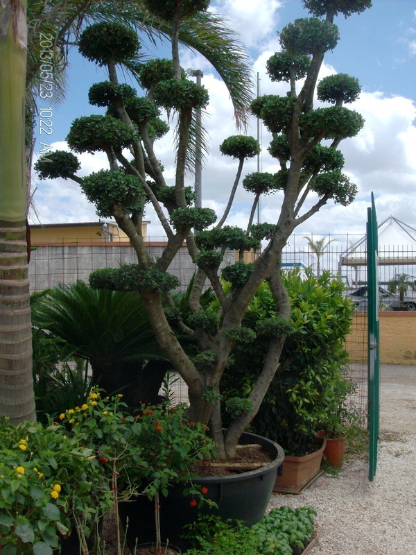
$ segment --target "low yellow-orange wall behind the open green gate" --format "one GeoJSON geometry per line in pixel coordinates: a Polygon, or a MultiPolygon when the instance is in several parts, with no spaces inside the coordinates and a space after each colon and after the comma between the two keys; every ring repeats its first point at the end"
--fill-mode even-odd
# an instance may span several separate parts
{"type": "MultiPolygon", "coordinates": [[[[352,333],[347,338],[352,362],[367,358],[367,314],[354,314],[352,333]]],[[[416,311],[380,312],[381,364],[416,364],[416,311]]]]}

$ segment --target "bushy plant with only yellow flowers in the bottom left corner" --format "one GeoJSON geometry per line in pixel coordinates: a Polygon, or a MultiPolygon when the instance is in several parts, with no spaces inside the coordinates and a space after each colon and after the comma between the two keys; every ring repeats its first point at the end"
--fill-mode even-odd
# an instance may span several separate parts
{"type": "Polygon", "coordinates": [[[52,555],[73,524],[82,535],[111,506],[110,490],[92,450],[61,426],[0,418],[0,432],[0,552],[52,555]]]}

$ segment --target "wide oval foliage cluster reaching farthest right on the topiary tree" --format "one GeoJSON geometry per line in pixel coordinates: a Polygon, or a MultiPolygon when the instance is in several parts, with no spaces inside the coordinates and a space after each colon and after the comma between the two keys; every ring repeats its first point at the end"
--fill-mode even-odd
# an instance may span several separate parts
{"type": "Polygon", "coordinates": [[[300,127],[307,136],[322,135],[323,139],[355,137],[363,125],[363,116],[344,106],[317,108],[300,119],[300,127]]]}

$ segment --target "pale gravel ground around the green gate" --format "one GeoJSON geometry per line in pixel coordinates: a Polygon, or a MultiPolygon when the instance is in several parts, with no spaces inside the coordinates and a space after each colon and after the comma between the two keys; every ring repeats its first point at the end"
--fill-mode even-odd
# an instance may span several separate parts
{"type": "Polygon", "coordinates": [[[270,499],[270,509],[309,505],[318,511],[311,555],[416,555],[416,368],[383,370],[374,481],[365,459],[349,461],[300,495],[270,499]]]}

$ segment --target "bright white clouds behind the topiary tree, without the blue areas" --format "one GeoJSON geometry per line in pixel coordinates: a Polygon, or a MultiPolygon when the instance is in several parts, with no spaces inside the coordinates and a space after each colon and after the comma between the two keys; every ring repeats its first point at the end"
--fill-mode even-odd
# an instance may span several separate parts
{"type": "MultiPolygon", "coordinates": [[[[259,72],[261,94],[286,94],[286,83],[272,83],[266,74],[266,60],[279,49],[275,29],[279,28],[277,18],[281,2],[273,0],[218,0],[215,9],[235,22],[247,44],[263,44],[266,47],[257,52],[253,62],[254,75],[259,72]],[[254,17],[252,14],[254,14],[254,17]],[[250,25],[247,22],[250,21],[250,25]]],[[[207,87],[210,104],[209,116],[205,119],[209,133],[209,159],[202,173],[202,202],[213,207],[220,215],[227,203],[232,187],[237,162],[220,154],[218,145],[229,135],[236,134],[232,103],[225,85],[217,78],[213,69],[201,57],[185,51],[182,53],[182,67],[198,67],[204,71],[202,84],[207,87]]],[[[336,73],[338,68],[323,65],[320,78],[336,73]]],[[[342,71],[342,69],[341,69],[342,71]]],[[[365,84],[365,83],[363,83],[365,84]]],[[[350,106],[365,118],[365,127],[353,139],[347,139],[340,146],[345,155],[345,173],[358,185],[358,196],[349,207],[329,203],[319,214],[302,224],[297,233],[307,234],[363,234],[367,220],[367,207],[370,194],[376,196],[376,210],[379,221],[392,214],[401,221],[414,225],[416,221],[416,107],[413,101],[402,96],[386,96],[378,91],[365,89],[360,99],[350,106]]],[[[248,134],[257,136],[256,120],[251,119],[248,134]]],[[[276,160],[267,152],[270,135],[262,130],[263,153],[261,171],[277,171],[276,160]]],[[[55,144],[57,148],[62,148],[55,144]]],[[[166,169],[166,178],[172,182],[174,177],[174,153],[172,137],[164,137],[157,143],[157,156],[166,169]]],[[[82,155],[82,175],[96,171],[105,163],[105,156],[82,155]]],[[[245,164],[245,173],[257,170],[257,160],[245,164]]],[[[193,176],[189,176],[189,185],[193,176]]],[[[79,186],[64,180],[45,182],[37,191],[37,205],[44,223],[57,221],[95,220],[95,210],[80,193],[79,186]]],[[[279,195],[267,196],[261,201],[261,219],[276,221],[279,211],[279,195]]],[[[227,223],[245,227],[252,198],[240,187],[236,194],[236,207],[227,223]]],[[[310,205],[310,203],[309,203],[310,205]]],[[[150,219],[149,233],[152,237],[162,236],[163,231],[157,223],[152,207],[146,209],[146,219],[150,219]]]]}

